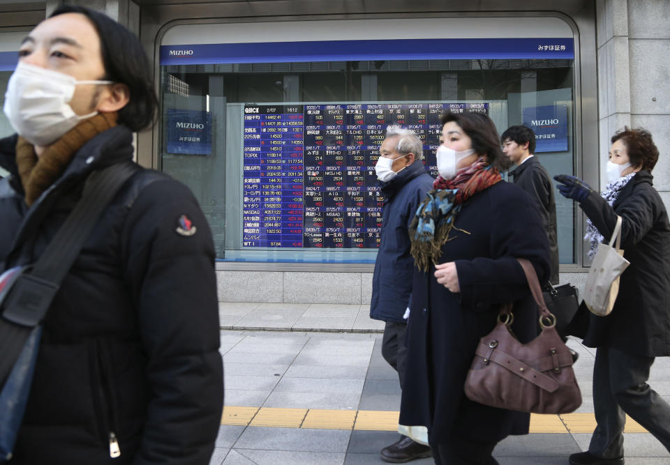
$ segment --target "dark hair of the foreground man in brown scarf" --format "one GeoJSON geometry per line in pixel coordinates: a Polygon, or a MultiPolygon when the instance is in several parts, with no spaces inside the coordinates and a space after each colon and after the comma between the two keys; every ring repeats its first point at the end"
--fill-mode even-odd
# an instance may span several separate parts
{"type": "Polygon", "coordinates": [[[128,105],[119,110],[119,123],[133,131],[149,128],[154,123],[158,98],[151,65],[140,40],[107,15],[83,6],[59,6],[50,17],[65,13],[80,13],[89,19],[100,38],[103,79],[126,84],[131,91],[128,105]]]}

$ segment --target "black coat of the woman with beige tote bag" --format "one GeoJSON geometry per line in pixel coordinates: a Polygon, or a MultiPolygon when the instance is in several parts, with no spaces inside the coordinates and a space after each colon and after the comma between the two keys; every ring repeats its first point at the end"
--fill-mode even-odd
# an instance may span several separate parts
{"type": "Polygon", "coordinates": [[[609,242],[622,218],[621,248],[630,261],[619,281],[611,314],[588,314],[584,344],[609,346],[636,356],[670,355],[670,224],[649,171],[639,171],[610,206],[597,192],[579,204],[609,242]]]}

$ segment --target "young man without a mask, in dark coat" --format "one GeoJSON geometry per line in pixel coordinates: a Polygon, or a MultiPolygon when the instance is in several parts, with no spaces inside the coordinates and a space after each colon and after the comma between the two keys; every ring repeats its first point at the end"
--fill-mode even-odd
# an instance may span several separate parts
{"type": "Polygon", "coordinates": [[[502,152],[516,165],[509,171],[514,184],[533,197],[539,207],[542,224],[549,238],[551,252],[551,284],[558,284],[558,239],[556,236],[556,199],[549,173],[533,155],[535,132],[526,126],[510,126],[500,136],[502,152]]]}

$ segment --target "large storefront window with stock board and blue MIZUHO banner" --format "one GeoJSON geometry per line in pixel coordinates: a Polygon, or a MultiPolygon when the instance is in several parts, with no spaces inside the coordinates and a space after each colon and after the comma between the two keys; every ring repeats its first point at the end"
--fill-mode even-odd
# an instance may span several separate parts
{"type": "MultiPolygon", "coordinates": [[[[433,175],[446,111],[484,112],[499,132],[532,125],[549,173],[573,172],[572,38],[361,42],[162,47],[161,168],[195,192],[218,259],[372,263],[389,124],[424,140],[433,175]]],[[[574,263],[574,206],[557,208],[560,259],[574,263]]]]}

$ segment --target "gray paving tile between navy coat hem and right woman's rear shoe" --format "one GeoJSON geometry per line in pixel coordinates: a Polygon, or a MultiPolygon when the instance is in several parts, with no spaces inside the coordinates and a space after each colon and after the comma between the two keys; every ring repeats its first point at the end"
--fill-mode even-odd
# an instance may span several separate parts
{"type": "Polygon", "coordinates": [[[496,449],[493,450],[493,455],[496,457],[567,457],[574,452],[581,452],[581,450],[569,434],[525,434],[507,436],[498,443],[496,449]]]}

